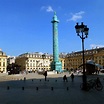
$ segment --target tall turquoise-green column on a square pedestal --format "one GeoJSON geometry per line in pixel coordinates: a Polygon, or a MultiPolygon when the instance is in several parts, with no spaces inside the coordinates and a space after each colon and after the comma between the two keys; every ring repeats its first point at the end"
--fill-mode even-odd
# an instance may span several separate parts
{"type": "Polygon", "coordinates": [[[53,25],[53,61],[51,63],[51,70],[57,72],[62,71],[62,64],[59,61],[59,50],[58,50],[58,23],[56,12],[54,12],[53,20],[51,21],[53,25]]]}

